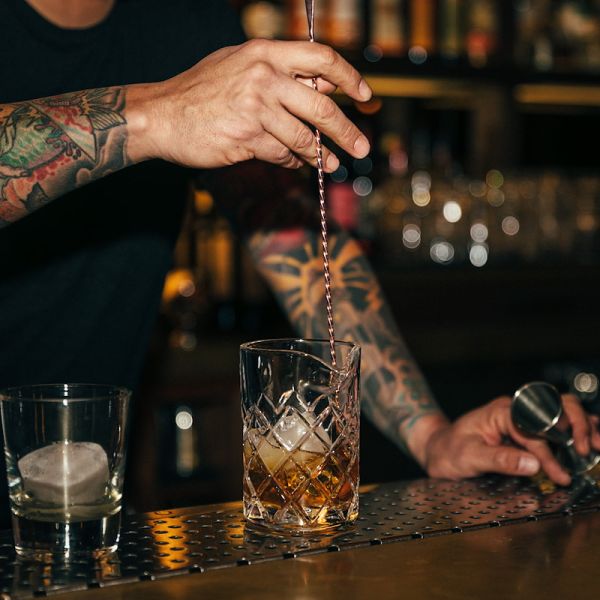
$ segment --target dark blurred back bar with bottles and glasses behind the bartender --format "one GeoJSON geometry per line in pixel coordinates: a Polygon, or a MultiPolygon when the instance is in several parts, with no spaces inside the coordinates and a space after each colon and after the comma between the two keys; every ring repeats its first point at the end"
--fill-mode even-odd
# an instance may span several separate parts
{"type": "MultiPolygon", "coordinates": [[[[304,0],[235,1],[249,37],[306,39],[304,0]]],[[[372,143],[327,177],[444,410],[544,379],[591,410],[600,375],[600,0],[317,0],[319,41],[367,78],[372,143]]],[[[310,169],[282,176],[317,202],[310,169]]],[[[136,400],[136,510],[239,499],[238,346],[293,335],[190,177],[136,400]]],[[[363,419],[364,483],[418,468],[363,419]]]]}

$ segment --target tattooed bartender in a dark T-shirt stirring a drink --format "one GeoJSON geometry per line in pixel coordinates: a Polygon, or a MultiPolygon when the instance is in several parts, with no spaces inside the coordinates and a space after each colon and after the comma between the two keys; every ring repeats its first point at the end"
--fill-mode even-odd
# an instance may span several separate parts
{"type": "MultiPolygon", "coordinates": [[[[328,96],[368,100],[360,74],[320,44],[244,42],[225,0],[4,0],[0,23],[0,387],[135,388],[184,167],[314,166],[308,124],[353,157],[369,152],[328,96]]],[[[339,165],[327,149],[324,165],[339,165]]],[[[247,239],[299,334],[327,337],[317,236],[271,226],[247,239]]],[[[514,429],[508,397],[449,422],[358,244],[336,234],[330,247],[337,333],[363,347],[363,410],[381,431],[431,476],[542,468],[569,484],[546,444],[514,429]]],[[[600,450],[596,421],[563,401],[577,451],[600,450]]]]}

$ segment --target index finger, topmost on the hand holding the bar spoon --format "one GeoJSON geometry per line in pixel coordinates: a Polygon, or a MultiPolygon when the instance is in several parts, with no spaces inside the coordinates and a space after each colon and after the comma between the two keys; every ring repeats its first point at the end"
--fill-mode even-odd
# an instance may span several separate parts
{"type": "Polygon", "coordinates": [[[361,74],[333,48],[316,42],[285,44],[285,52],[277,49],[277,62],[291,77],[320,77],[360,102],[373,95],[361,74]]]}

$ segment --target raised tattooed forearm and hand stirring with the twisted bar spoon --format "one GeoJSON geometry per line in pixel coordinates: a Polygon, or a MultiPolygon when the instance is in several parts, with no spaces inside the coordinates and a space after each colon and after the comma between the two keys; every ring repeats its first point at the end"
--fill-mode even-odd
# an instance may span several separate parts
{"type": "MultiPolygon", "coordinates": [[[[314,162],[312,123],[352,156],[366,138],[322,92],[371,92],[320,44],[252,40],[169,80],[0,104],[0,226],[66,192],[150,158],[196,168],[250,158],[314,162]],[[304,85],[319,77],[320,91],[304,85]]],[[[325,150],[327,170],[338,160],[325,150]]]]}

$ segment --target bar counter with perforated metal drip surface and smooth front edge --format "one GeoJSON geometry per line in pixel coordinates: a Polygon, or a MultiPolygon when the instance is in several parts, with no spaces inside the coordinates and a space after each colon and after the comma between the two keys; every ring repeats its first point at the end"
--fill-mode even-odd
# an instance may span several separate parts
{"type": "Polygon", "coordinates": [[[373,486],[327,535],[246,528],[239,503],[125,521],[118,552],[44,567],[0,540],[3,599],[598,598],[600,502],[528,480],[373,486]]]}

